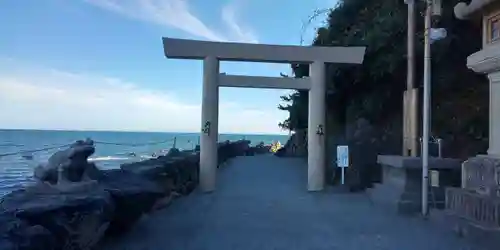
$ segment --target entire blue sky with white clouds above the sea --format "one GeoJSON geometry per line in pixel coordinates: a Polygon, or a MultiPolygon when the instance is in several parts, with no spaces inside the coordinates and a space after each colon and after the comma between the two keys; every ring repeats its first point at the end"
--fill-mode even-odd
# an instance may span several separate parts
{"type": "MultiPolygon", "coordinates": [[[[163,55],[161,37],[299,44],[315,9],[335,0],[4,0],[2,128],[200,129],[202,64],[163,55]]],[[[311,42],[316,19],[305,34],[311,42]]],[[[221,72],[279,76],[288,65],[222,63],[221,72]]],[[[279,133],[289,90],[220,90],[219,131],[279,133]]]]}

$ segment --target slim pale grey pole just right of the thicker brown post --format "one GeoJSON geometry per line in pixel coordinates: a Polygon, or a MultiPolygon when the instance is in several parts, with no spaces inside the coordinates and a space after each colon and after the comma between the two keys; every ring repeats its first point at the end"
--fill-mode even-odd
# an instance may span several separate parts
{"type": "Polygon", "coordinates": [[[428,195],[429,195],[429,109],[431,95],[431,14],[432,0],[426,0],[425,11],[425,47],[424,47],[424,107],[423,107],[423,136],[422,136],[422,215],[426,217],[429,214],[428,195]]]}

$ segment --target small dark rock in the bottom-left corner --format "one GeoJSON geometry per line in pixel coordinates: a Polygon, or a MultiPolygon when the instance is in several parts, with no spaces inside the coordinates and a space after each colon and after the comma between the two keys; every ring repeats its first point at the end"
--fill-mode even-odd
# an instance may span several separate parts
{"type": "Polygon", "coordinates": [[[31,226],[13,215],[0,214],[0,249],[51,250],[56,249],[52,233],[40,225],[31,226]]]}

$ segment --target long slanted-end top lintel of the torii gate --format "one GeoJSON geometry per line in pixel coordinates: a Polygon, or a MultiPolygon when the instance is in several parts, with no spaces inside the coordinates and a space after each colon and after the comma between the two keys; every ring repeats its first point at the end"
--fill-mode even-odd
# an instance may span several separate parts
{"type": "Polygon", "coordinates": [[[319,47],[270,45],[232,42],[209,42],[163,38],[165,56],[173,59],[202,60],[216,57],[222,61],[270,63],[325,63],[361,64],[366,47],[319,47]]]}

